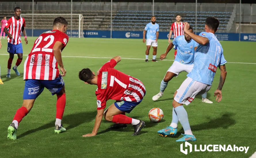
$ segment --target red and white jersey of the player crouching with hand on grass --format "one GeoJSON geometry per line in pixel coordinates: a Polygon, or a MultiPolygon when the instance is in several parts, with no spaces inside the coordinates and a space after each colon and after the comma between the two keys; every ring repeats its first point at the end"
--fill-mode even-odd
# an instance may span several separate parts
{"type": "Polygon", "coordinates": [[[146,88],[140,80],[114,69],[115,65],[116,61],[111,59],[99,71],[98,88],[95,91],[98,110],[104,109],[109,99],[139,102],[146,94],[146,88]]]}

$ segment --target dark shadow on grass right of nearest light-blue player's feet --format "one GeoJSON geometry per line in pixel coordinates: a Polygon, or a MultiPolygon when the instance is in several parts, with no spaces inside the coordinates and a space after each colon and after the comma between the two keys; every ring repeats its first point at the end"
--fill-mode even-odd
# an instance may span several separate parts
{"type": "MultiPolygon", "coordinates": [[[[231,117],[234,115],[234,113],[224,113],[221,117],[215,118],[213,120],[209,119],[208,122],[198,124],[198,125],[192,125],[191,130],[192,131],[199,131],[199,130],[208,130],[208,129],[214,129],[214,128],[228,128],[229,126],[232,126],[236,124],[236,121],[232,119],[231,117]]],[[[184,133],[183,128],[181,128],[175,136],[172,137],[179,137],[181,133],[184,133]]]]}

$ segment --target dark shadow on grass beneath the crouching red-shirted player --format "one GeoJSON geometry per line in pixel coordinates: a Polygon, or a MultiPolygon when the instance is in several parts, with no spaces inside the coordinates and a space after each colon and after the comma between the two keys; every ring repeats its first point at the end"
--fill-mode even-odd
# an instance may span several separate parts
{"type": "MultiPolygon", "coordinates": [[[[138,116],[133,116],[133,118],[139,118],[139,117],[138,116]]],[[[151,122],[149,120],[147,120],[147,121],[143,120],[143,121],[145,122],[146,126],[141,130],[140,134],[147,133],[148,131],[145,130],[146,128],[150,128],[150,127],[153,127],[153,126],[157,125],[157,123],[151,122]]],[[[108,122],[108,121],[104,120],[103,122],[108,122]]],[[[165,120],[162,120],[161,122],[165,122],[165,120]]],[[[132,134],[134,132],[134,128],[133,128],[132,125],[127,125],[127,128],[119,128],[119,129],[107,128],[106,130],[98,132],[97,135],[103,134],[103,133],[106,133],[106,132],[109,132],[109,131],[131,132],[131,134],[132,134]]]]}

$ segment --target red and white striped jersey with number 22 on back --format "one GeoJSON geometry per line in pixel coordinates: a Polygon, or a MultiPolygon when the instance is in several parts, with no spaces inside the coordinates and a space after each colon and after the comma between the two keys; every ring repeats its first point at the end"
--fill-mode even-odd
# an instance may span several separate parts
{"type": "Polygon", "coordinates": [[[54,80],[59,77],[58,63],[52,50],[56,41],[63,44],[63,50],[68,43],[68,35],[59,30],[51,30],[36,39],[24,63],[24,80],[54,80]]]}

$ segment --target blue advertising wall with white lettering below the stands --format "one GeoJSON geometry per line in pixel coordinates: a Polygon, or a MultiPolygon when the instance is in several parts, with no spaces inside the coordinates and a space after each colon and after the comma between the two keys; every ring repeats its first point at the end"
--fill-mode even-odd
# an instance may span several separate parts
{"type": "MultiPolygon", "coordinates": [[[[48,30],[35,29],[34,36],[39,36],[42,32],[48,30]]],[[[32,36],[32,29],[26,29],[27,36],[32,36]]],[[[67,31],[71,35],[70,30],[67,31]]],[[[198,33],[199,34],[199,33],[198,33]]],[[[159,32],[159,39],[168,39],[169,32],[159,32]]],[[[102,30],[83,30],[83,36],[89,38],[110,38],[110,31],[102,30]]],[[[215,33],[218,40],[221,41],[239,41],[238,33],[215,33]]],[[[72,37],[78,37],[78,30],[72,30],[72,37]]],[[[112,31],[112,38],[143,38],[142,31],[112,31]]],[[[172,35],[173,38],[173,35],[172,35]]],[[[256,41],[256,34],[241,33],[241,41],[256,41]]]]}

